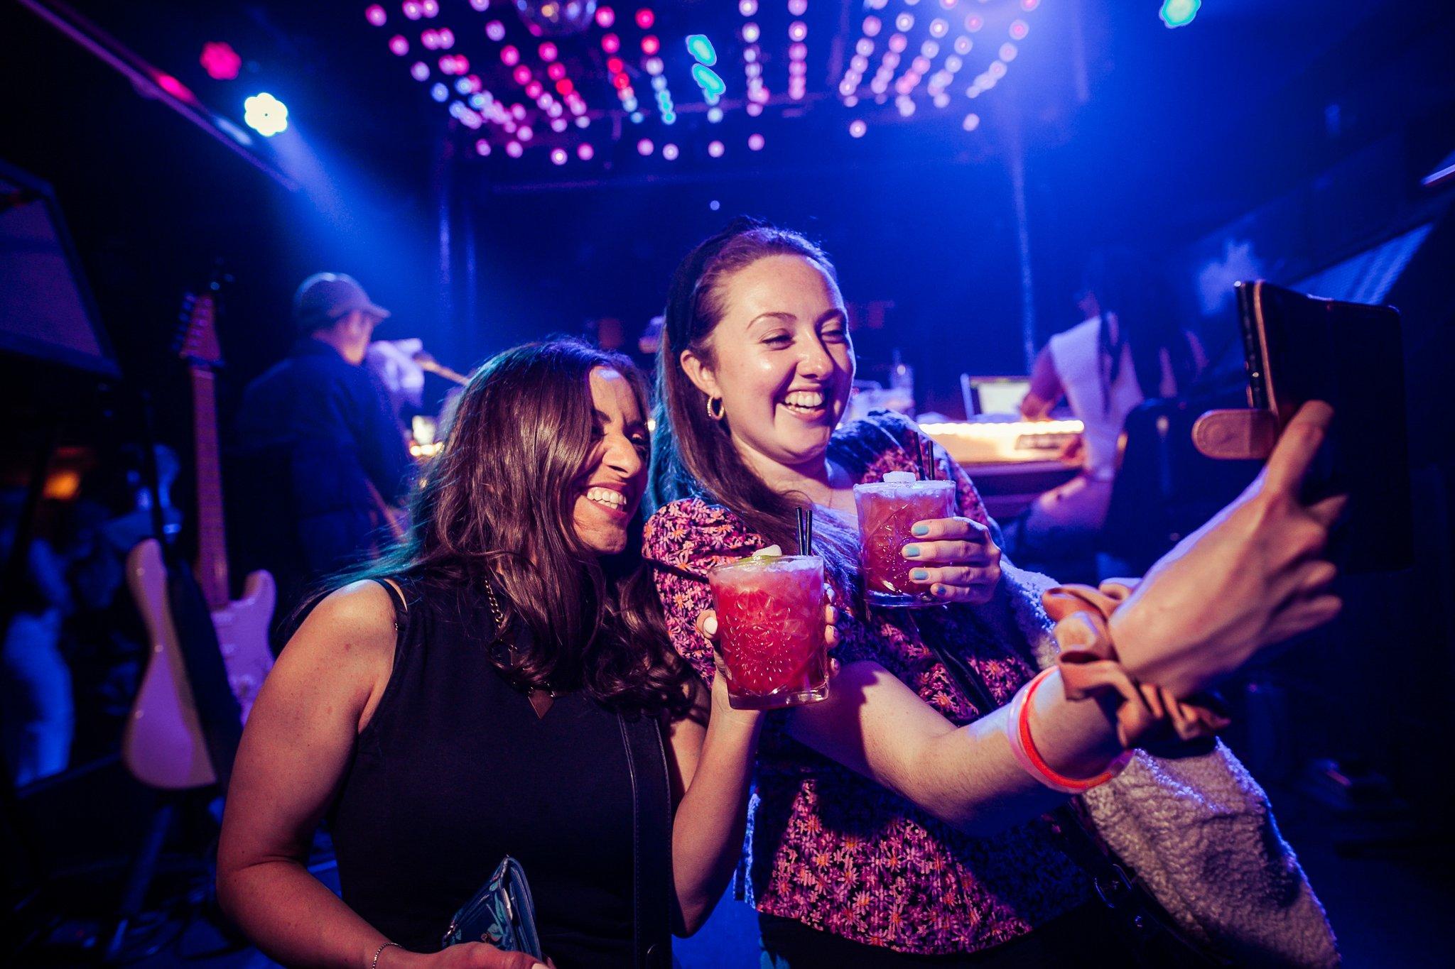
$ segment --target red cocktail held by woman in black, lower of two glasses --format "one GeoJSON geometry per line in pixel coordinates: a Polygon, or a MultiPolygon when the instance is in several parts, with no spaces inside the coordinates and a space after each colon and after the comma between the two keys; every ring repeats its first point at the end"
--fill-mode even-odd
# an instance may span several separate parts
{"type": "Polygon", "coordinates": [[[707,583],[732,706],[768,710],[828,696],[824,559],[745,558],[719,565],[707,583]]]}

